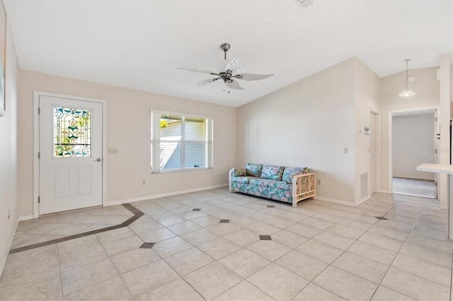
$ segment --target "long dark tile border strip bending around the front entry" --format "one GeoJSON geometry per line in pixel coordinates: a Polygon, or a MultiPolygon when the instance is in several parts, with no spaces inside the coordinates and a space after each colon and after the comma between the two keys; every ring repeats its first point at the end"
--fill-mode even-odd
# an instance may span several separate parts
{"type": "Polygon", "coordinates": [[[29,250],[29,249],[36,249],[36,248],[39,248],[39,247],[48,246],[50,244],[57,244],[59,242],[66,242],[67,240],[75,240],[76,238],[85,237],[85,236],[88,236],[88,235],[98,234],[98,233],[107,232],[107,231],[110,231],[110,230],[115,230],[115,229],[127,227],[128,225],[134,223],[135,220],[138,220],[140,217],[142,217],[144,215],[144,213],[142,211],[139,211],[139,209],[135,208],[130,203],[123,203],[122,206],[125,207],[130,212],[134,213],[134,216],[132,216],[131,218],[125,220],[125,222],[121,223],[120,225],[113,225],[113,226],[102,228],[102,229],[98,229],[98,230],[93,230],[93,231],[83,232],[83,233],[79,233],[79,234],[75,234],[75,235],[69,235],[67,237],[57,238],[56,240],[47,240],[47,242],[39,242],[38,244],[30,244],[30,245],[25,246],[25,247],[18,247],[18,248],[15,248],[15,249],[11,249],[9,251],[9,254],[23,252],[23,251],[26,251],[26,250],[29,250]]]}

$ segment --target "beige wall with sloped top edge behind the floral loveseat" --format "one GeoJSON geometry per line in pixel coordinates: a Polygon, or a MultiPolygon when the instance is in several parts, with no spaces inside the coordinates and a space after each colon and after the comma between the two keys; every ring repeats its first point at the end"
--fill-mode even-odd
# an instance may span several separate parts
{"type": "Polygon", "coordinates": [[[354,204],[355,60],[240,107],[239,165],[311,167],[319,199],[354,204]]]}

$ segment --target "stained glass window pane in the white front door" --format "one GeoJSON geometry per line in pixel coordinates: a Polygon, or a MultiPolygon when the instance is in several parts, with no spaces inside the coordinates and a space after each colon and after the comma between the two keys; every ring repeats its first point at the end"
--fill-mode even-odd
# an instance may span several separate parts
{"type": "Polygon", "coordinates": [[[54,107],[54,157],[91,157],[91,110],[54,107]]]}

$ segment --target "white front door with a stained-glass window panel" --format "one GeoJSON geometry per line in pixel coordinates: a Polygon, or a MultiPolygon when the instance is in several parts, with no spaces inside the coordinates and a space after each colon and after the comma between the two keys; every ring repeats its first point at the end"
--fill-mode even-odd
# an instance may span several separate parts
{"type": "Polygon", "coordinates": [[[39,213],[102,205],[103,104],[39,96],[39,213]]]}

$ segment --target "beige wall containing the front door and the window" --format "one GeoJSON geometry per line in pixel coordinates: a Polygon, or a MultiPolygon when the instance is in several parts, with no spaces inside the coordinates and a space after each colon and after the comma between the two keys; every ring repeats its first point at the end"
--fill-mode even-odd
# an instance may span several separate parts
{"type": "Polygon", "coordinates": [[[106,100],[107,147],[118,151],[107,157],[108,203],[226,184],[236,165],[236,108],[32,71],[21,70],[19,79],[20,216],[33,214],[33,90],[106,100]],[[214,169],[151,175],[151,108],[214,117],[214,169]]]}

